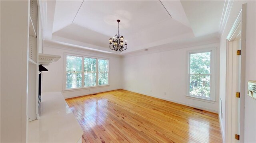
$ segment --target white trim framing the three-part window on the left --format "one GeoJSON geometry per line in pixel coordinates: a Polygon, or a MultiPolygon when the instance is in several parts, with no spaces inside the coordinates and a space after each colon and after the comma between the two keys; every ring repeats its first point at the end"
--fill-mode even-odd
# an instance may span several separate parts
{"type": "MultiPolygon", "coordinates": [[[[87,56],[87,55],[79,55],[79,54],[73,54],[73,53],[64,53],[64,64],[63,64],[63,92],[69,92],[69,91],[76,91],[76,90],[85,90],[85,89],[92,89],[92,88],[100,88],[100,87],[106,87],[106,86],[110,86],[109,83],[109,59],[107,58],[102,58],[102,57],[93,57],[93,56],[87,56]],[[84,73],[84,58],[94,58],[96,59],[96,86],[86,86],[84,87],[84,82],[82,80],[82,87],[79,88],[70,88],[70,89],[66,89],[66,59],[67,59],[67,55],[70,56],[77,56],[77,57],[82,57],[82,73],[84,73]],[[108,84],[104,84],[104,85],[98,85],[98,59],[103,59],[103,60],[108,60],[108,84]]],[[[82,79],[84,78],[84,74],[82,74],[82,79]]]]}

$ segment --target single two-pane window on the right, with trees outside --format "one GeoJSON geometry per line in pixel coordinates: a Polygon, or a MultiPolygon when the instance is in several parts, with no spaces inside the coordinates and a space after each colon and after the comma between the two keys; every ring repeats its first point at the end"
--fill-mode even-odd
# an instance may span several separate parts
{"type": "Polygon", "coordinates": [[[189,53],[188,96],[214,100],[213,50],[189,53]]]}

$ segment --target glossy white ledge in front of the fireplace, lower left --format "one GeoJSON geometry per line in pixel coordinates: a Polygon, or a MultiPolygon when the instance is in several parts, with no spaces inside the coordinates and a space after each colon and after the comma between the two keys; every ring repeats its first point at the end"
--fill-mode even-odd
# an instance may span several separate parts
{"type": "Polygon", "coordinates": [[[42,93],[39,119],[28,121],[30,143],[77,143],[83,131],[61,92],[42,93]]]}

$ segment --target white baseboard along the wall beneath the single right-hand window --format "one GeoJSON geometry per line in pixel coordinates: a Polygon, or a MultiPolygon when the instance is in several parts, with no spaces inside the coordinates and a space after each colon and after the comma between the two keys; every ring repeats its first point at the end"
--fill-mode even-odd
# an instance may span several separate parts
{"type": "Polygon", "coordinates": [[[151,97],[154,97],[154,98],[158,98],[158,99],[162,99],[162,100],[166,100],[166,101],[170,101],[170,102],[174,102],[174,103],[178,103],[178,104],[182,104],[182,105],[186,105],[186,106],[190,106],[190,107],[193,107],[193,108],[198,108],[198,109],[201,109],[201,110],[205,110],[205,111],[209,111],[209,112],[218,114],[218,111],[212,110],[212,109],[208,109],[208,108],[205,108],[205,107],[202,107],[202,106],[195,106],[195,105],[192,105],[192,104],[187,104],[187,103],[179,102],[179,101],[176,101],[176,100],[171,100],[171,99],[167,99],[167,98],[162,98],[162,97],[158,97],[158,96],[146,94],[146,93],[143,93],[143,92],[138,92],[138,91],[134,91],[134,90],[129,90],[129,89],[126,89],[126,88],[121,88],[121,89],[130,91],[130,92],[136,92],[136,93],[143,94],[143,95],[146,95],[146,96],[151,96],[151,97]]]}

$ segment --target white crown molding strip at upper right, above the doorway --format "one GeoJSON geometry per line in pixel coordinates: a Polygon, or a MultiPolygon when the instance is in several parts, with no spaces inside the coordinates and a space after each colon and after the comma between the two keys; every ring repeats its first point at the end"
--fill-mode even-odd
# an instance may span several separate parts
{"type": "Polygon", "coordinates": [[[221,35],[222,35],[222,33],[226,27],[226,24],[228,22],[228,18],[229,18],[233,3],[234,3],[234,0],[225,0],[224,8],[222,11],[222,17],[220,20],[220,27],[219,27],[219,33],[221,35]]]}

